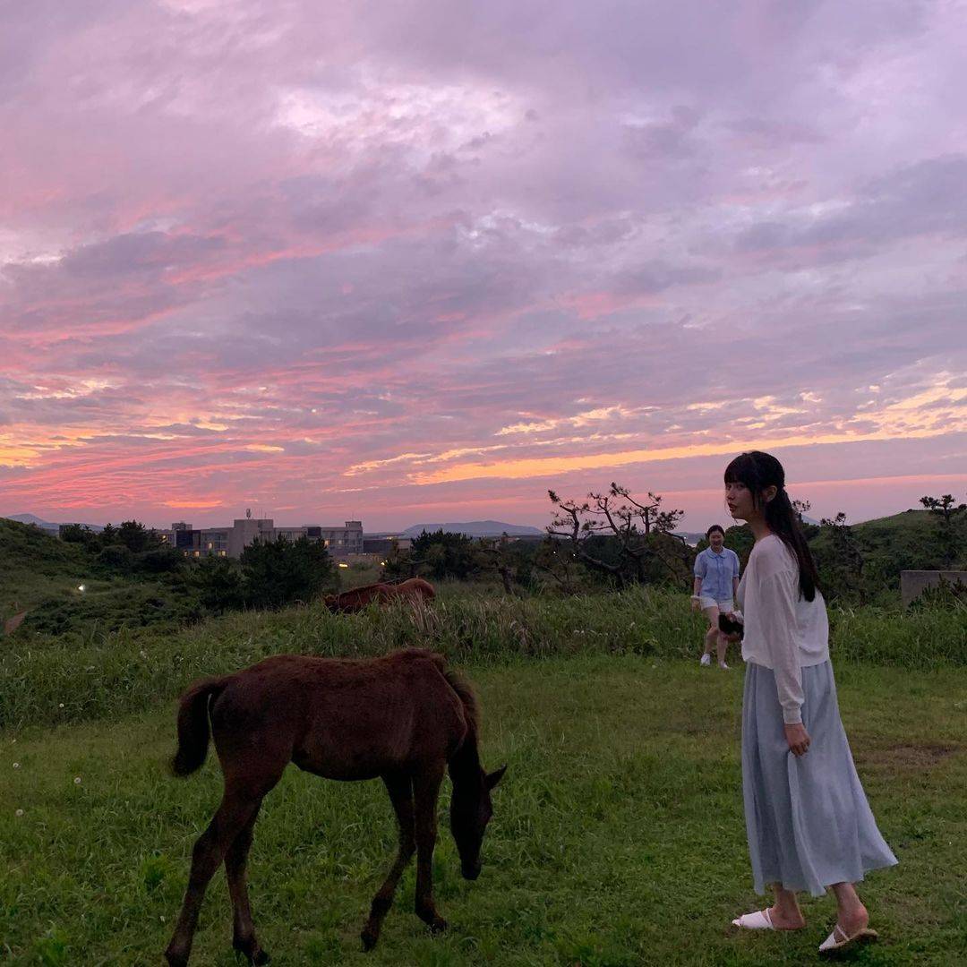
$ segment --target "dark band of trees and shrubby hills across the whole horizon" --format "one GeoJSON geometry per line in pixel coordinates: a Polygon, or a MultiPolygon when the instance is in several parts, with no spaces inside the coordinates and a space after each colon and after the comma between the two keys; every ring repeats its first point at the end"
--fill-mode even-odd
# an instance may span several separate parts
{"type": "MultiPolygon", "coordinates": [[[[637,498],[611,484],[579,501],[554,491],[548,497],[553,519],[542,540],[425,533],[410,548],[388,555],[380,576],[496,582],[515,597],[640,585],[689,589],[695,555],[706,542],[691,547],[677,535],[683,512],[667,508],[658,494],[637,498]]],[[[967,568],[967,504],[957,504],[950,494],[923,497],[921,503],[923,511],[854,527],[844,513],[812,523],[804,518],[808,502],[795,502],[828,601],[894,606],[900,571],[967,568]]],[[[179,628],[227,611],[309,603],[339,585],[325,547],[305,538],[256,542],[239,560],[187,558],[135,520],[107,525],[100,533],[73,525],[64,529],[63,542],[27,525],[3,524],[0,584],[6,583],[10,601],[0,602],[0,617],[25,612],[18,633],[179,628]],[[21,604],[22,594],[10,588],[27,571],[36,572],[40,590],[21,604]]],[[[752,542],[747,527],[727,528],[726,546],[739,554],[743,567],[752,542]]],[[[356,583],[366,583],[356,576],[356,583]]],[[[956,586],[932,597],[967,599],[956,586]]]]}

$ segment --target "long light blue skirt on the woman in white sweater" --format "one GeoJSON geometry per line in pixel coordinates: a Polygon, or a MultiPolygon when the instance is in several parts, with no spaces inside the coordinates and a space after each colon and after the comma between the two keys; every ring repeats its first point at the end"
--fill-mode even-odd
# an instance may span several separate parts
{"type": "Polygon", "coordinates": [[[748,662],[742,703],[742,786],[755,891],[826,893],[897,861],[876,828],[839,718],[833,665],[803,669],[803,724],[811,744],[786,742],[771,668],[748,662]]]}

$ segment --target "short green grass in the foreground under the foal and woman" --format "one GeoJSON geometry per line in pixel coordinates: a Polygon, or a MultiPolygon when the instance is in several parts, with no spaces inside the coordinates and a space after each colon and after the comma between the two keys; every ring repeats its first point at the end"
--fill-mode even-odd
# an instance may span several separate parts
{"type": "MultiPolygon", "coordinates": [[[[742,816],[741,668],[587,653],[463,666],[483,700],[485,764],[510,770],[476,883],[459,878],[444,787],[436,892],[450,932],[430,938],[412,913],[411,867],[380,947],[361,952],[368,901],[395,846],[389,802],[381,783],[291,768],[263,808],[249,865],[274,964],[817,961],[831,898],[806,900],[801,933],[728,928],[761,905],[742,816]]],[[[840,662],[837,679],[867,795],[900,859],[864,884],[882,943],[854,962],[963,963],[967,669],[840,662]]],[[[214,759],[195,777],[166,775],[173,745],[167,702],[0,733],[0,959],[161,962],[191,844],[220,796],[214,759]]],[[[192,962],[234,964],[230,935],[219,876],[192,962]]]]}

